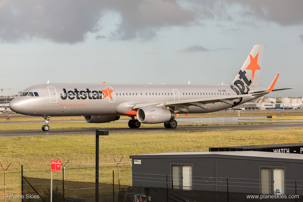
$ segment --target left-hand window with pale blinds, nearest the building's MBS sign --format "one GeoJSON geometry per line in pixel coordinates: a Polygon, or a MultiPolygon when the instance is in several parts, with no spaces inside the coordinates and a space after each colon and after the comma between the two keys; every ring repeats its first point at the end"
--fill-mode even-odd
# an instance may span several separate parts
{"type": "Polygon", "coordinates": [[[191,165],[171,165],[172,188],[192,190],[191,165]]]}

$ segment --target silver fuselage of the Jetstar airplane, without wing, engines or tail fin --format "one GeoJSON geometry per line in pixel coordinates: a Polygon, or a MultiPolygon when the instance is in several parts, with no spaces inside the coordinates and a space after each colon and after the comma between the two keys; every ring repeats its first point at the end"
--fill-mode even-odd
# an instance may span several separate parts
{"type": "MultiPolygon", "coordinates": [[[[13,108],[19,114],[31,116],[135,116],[135,104],[237,95],[229,84],[39,84],[23,92],[37,92],[38,96],[19,96],[13,100],[13,108]]],[[[235,101],[234,106],[258,97],[245,97],[235,101]]],[[[187,111],[208,113],[233,107],[221,102],[206,105],[209,110],[190,106],[187,111]]]]}

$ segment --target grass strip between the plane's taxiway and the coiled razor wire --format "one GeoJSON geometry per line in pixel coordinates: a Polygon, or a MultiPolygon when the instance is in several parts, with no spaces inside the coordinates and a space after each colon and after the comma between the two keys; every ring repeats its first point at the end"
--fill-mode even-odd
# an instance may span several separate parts
{"type": "MultiPolygon", "coordinates": [[[[155,153],[208,147],[301,142],[303,129],[110,134],[100,136],[100,153],[155,153]]],[[[0,158],[94,154],[94,135],[1,138],[0,158]]]]}

